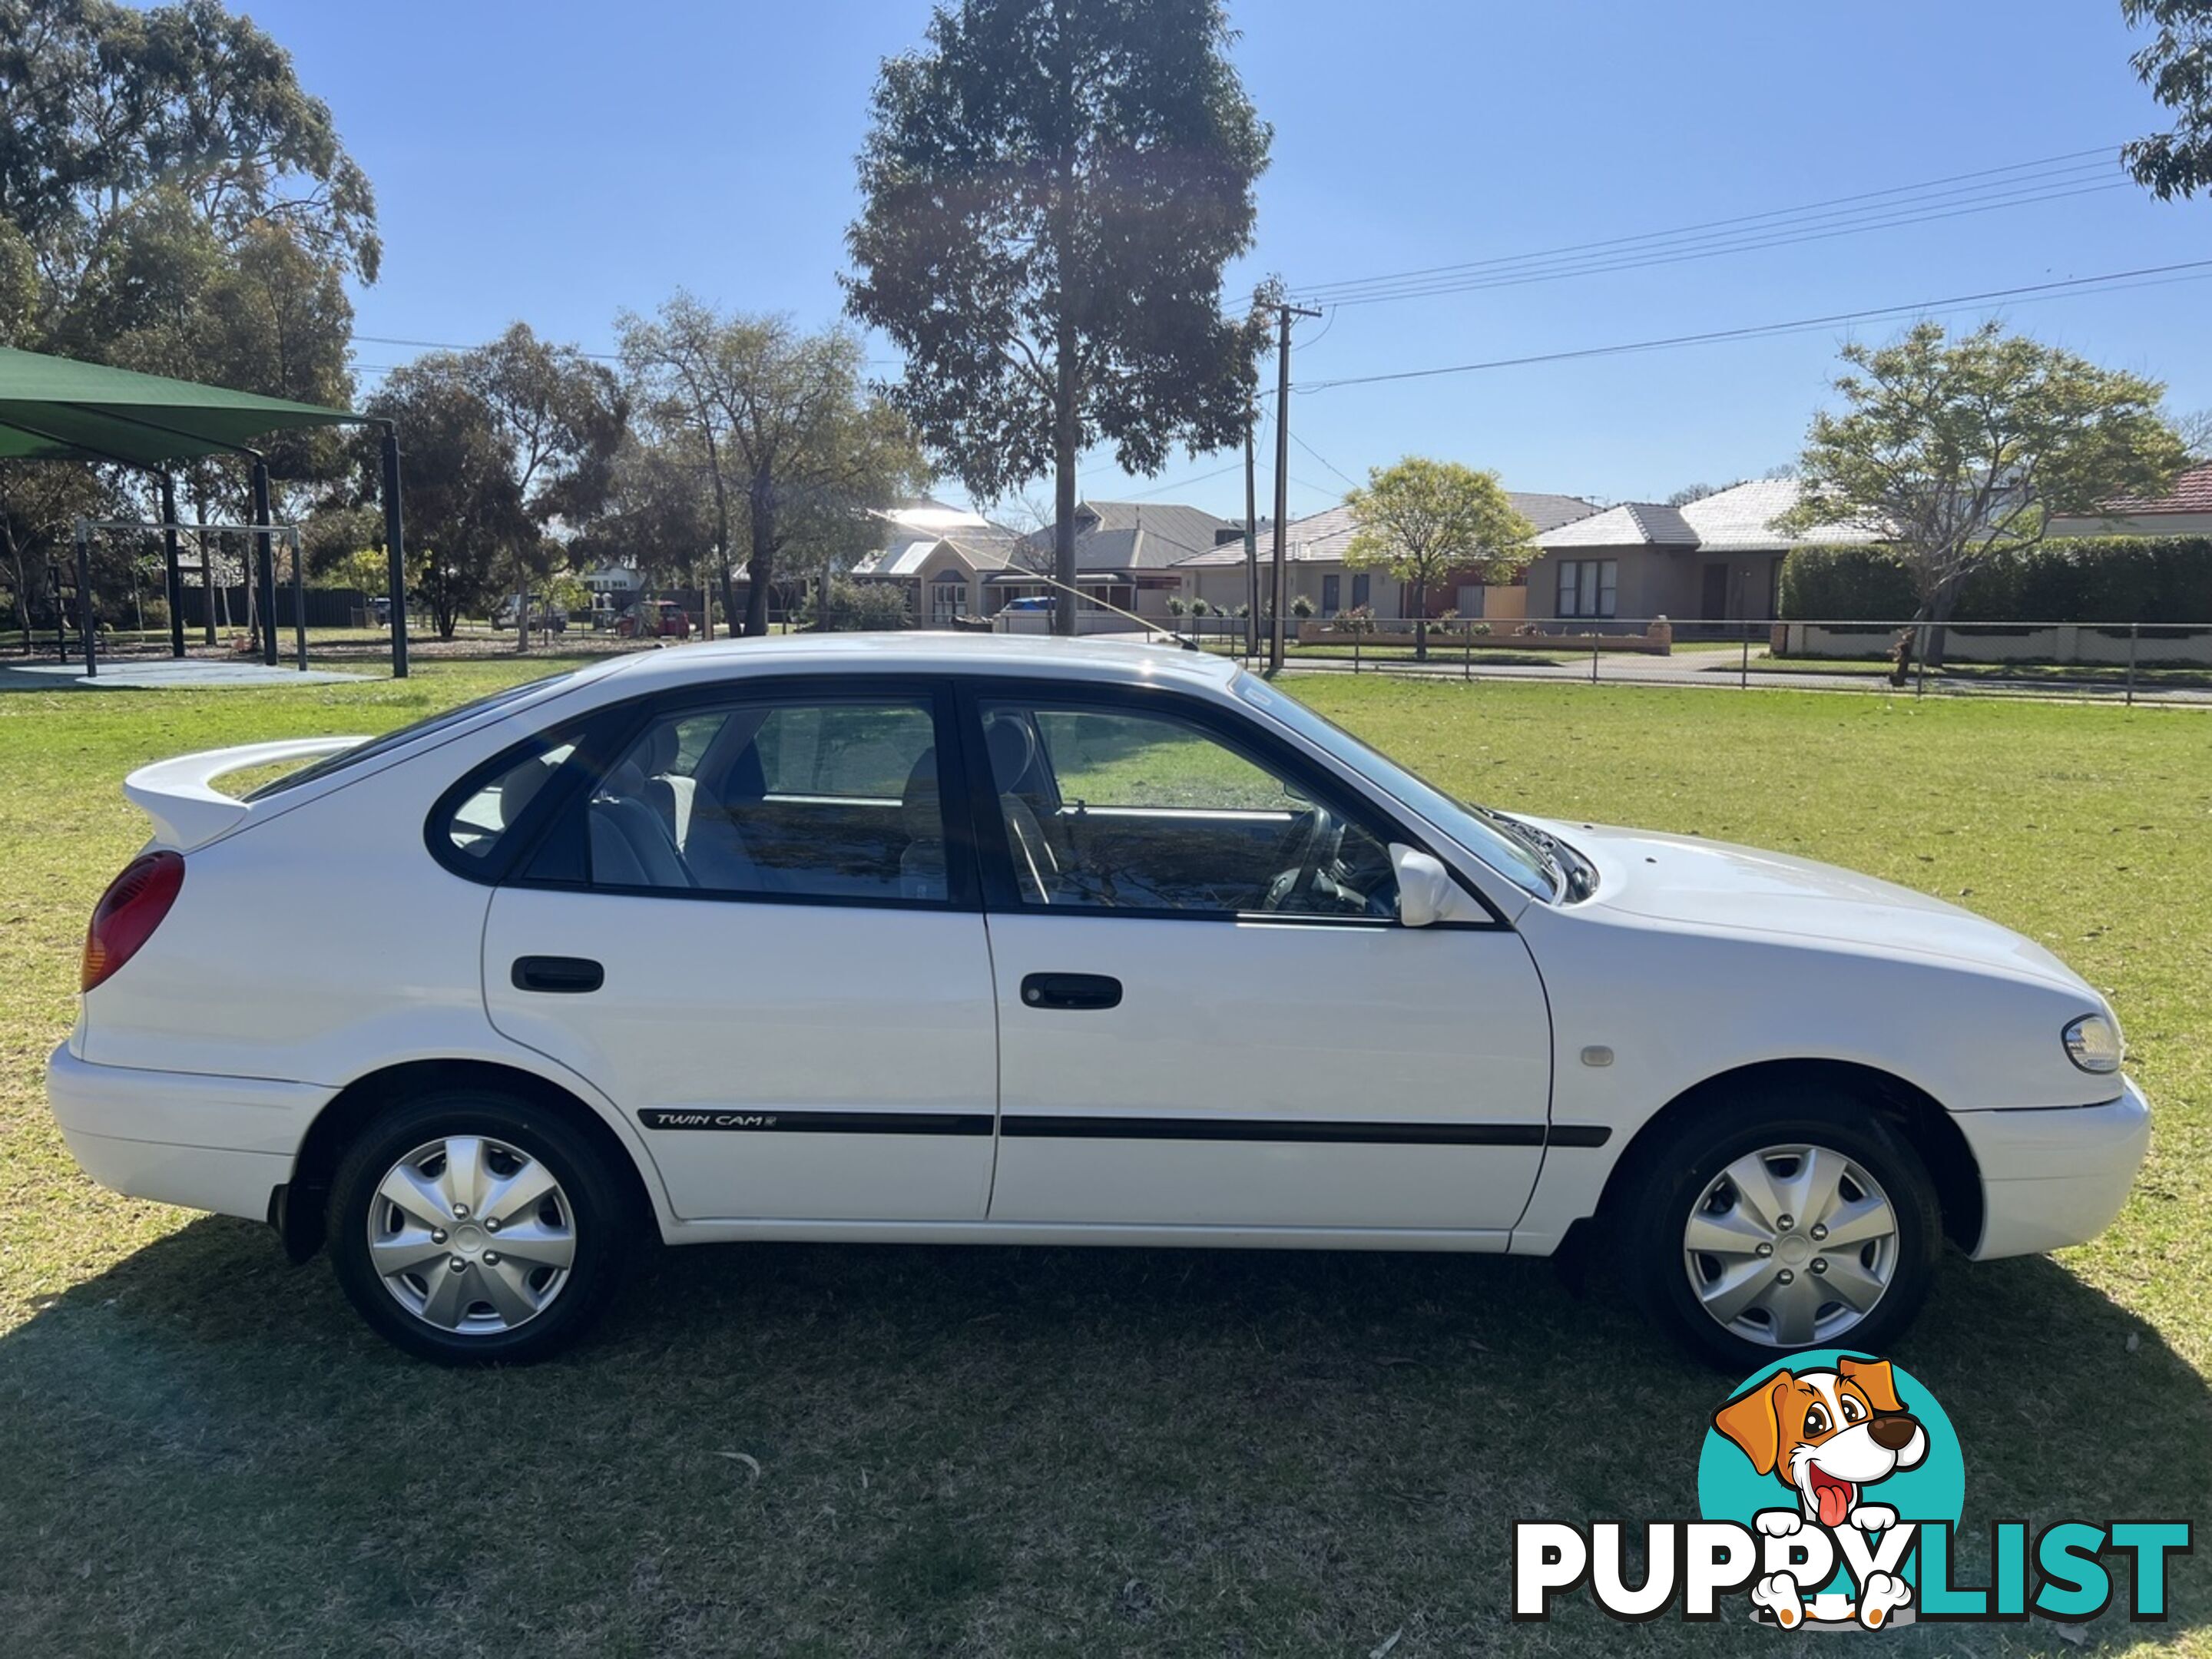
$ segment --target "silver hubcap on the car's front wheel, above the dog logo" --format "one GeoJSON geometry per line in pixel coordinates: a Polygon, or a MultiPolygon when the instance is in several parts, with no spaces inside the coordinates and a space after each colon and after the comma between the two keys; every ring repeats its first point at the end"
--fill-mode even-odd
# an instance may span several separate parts
{"type": "Polygon", "coordinates": [[[1767,1146],[1712,1177],[1681,1250],[1719,1325],[1765,1347],[1823,1347],[1889,1290],[1898,1212],[1843,1152],[1767,1146]]]}

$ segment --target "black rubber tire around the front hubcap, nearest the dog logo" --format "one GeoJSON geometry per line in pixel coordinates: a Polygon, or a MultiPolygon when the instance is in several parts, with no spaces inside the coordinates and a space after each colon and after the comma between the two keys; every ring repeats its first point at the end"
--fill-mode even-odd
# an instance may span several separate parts
{"type": "Polygon", "coordinates": [[[1752,1340],[1705,1310],[1690,1279],[1683,1230],[1692,1208],[1730,1164],[1747,1152],[1798,1144],[1840,1152],[1880,1186],[1896,1214],[1896,1259],[1887,1290],[1849,1329],[1794,1347],[1880,1354],[1920,1312],[1942,1250],[1942,1210],[1927,1164],[1896,1124],[1849,1095],[1747,1088],[1663,1128],[1639,1148],[1630,1172],[1635,1186],[1621,1208],[1626,1279],[1646,1314],[1683,1349],[1732,1376],[1772,1365],[1794,1347],[1752,1340]]]}

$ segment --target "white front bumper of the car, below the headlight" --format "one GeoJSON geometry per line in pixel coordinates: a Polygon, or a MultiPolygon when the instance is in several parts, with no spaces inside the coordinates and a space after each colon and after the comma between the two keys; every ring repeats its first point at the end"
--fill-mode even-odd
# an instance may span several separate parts
{"type": "Polygon", "coordinates": [[[2104,1106],[1953,1113],[1982,1168],[1975,1261],[2088,1243],[2128,1201],[2150,1148],[2150,1102],[2121,1079],[2104,1106]]]}

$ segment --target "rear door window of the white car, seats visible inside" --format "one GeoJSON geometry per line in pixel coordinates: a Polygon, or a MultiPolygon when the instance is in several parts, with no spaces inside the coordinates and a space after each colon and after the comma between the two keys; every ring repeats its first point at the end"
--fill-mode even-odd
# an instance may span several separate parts
{"type": "Polygon", "coordinates": [[[936,721],[920,699],[670,712],[606,768],[582,812],[593,887],[947,898],[936,721]]]}

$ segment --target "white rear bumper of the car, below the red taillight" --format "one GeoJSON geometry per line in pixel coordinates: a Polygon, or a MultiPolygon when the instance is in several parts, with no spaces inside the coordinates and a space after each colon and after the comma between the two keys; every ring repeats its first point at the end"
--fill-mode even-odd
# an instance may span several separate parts
{"type": "Polygon", "coordinates": [[[93,1066],[53,1051],[46,1102],[71,1157],[133,1199],[265,1221],[307,1124],[336,1091],[265,1077],[93,1066]]]}

